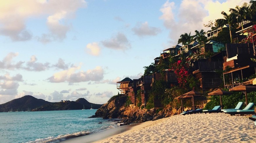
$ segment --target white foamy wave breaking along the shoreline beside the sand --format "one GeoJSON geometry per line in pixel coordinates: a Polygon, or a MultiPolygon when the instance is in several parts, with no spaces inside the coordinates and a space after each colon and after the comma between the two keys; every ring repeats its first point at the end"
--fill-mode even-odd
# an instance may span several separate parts
{"type": "Polygon", "coordinates": [[[34,141],[30,141],[27,143],[57,143],[66,139],[78,137],[78,136],[83,136],[83,135],[88,135],[90,132],[82,131],[82,132],[77,132],[73,134],[66,134],[66,135],[58,135],[56,137],[50,136],[47,138],[39,138],[34,141]]]}

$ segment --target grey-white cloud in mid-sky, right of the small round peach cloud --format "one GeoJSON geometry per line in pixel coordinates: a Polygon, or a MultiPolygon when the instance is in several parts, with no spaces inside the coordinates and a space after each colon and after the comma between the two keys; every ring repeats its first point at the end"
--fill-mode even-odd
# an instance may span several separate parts
{"type": "Polygon", "coordinates": [[[117,33],[111,39],[101,42],[105,47],[116,50],[127,50],[131,47],[130,42],[123,33],[117,33]]]}

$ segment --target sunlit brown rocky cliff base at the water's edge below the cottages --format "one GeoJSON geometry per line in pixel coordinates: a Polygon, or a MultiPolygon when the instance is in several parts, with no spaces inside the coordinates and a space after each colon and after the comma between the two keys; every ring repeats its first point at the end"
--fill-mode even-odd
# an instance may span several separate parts
{"type": "Polygon", "coordinates": [[[94,117],[103,119],[123,119],[124,124],[141,123],[150,120],[170,117],[181,113],[180,109],[172,109],[170,105],[165,108],[145,109],[138,106],[125,105],[127,96],[122,95],[113,101],[102,105],[95,113],[94,117]],[[159,111],[160,110],[160,111],[159,111]]]}

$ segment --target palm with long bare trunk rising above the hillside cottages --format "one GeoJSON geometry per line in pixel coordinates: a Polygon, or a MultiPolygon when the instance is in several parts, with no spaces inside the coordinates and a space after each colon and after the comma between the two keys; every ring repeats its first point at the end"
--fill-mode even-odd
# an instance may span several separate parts
{"type": "Polygon", "coordinates": [[[222,27],[224,24],[228,24],[229,27],[229,34],[230,34],[230,42],[233,42],[233,37],[231,33],[231,26],[234,26],[236,21],[236,15],[234,13],[227,14],[226,12],[222,11],[221,14],[223,15],[224,19],[217,19],[216,27],[222,27]]]}

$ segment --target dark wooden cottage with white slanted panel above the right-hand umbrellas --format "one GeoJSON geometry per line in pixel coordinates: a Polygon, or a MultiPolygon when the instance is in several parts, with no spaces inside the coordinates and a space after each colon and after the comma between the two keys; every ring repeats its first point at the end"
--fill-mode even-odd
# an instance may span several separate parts
{"type": "Polygon", "coordinates": [[[226,44],[227,56],[224,57],[223,76],[226,88],[241,85],[243,79],[256,73],[256,58],[252,43],[226,44]]]}

